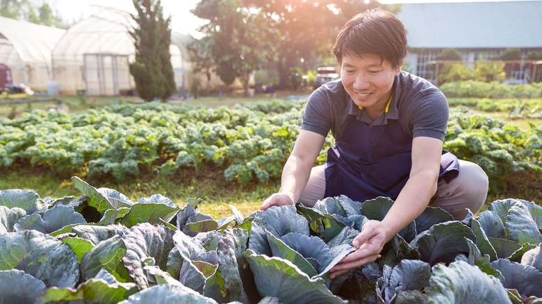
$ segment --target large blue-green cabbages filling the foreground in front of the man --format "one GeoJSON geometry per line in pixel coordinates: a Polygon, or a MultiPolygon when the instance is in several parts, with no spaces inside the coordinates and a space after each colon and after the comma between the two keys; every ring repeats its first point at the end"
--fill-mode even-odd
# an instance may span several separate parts
{"type": "Polygon", "coordinates": [[[539,303],[542,208],[494,201],[457,221],[428,207],[370,262],[330,280],[393,205],[346,196],[215,220],[161,194],[133,202],[0,191],[3,303],[539,303]]]}

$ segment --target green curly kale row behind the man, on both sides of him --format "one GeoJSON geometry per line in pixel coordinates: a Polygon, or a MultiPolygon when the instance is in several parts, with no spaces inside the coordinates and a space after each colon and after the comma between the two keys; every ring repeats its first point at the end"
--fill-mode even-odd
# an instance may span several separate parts
{"type": "MultiPolygon", "coordinates": [[[[82,115],[25,113],[0,124],[0,167],[26,162],[55,171],[88,167],[87,178],[122,182],[140,171],[163,175],[192,166],[227,180],[266,183],[281,174],[299,132],[304,101],[209,109],[161,103],[118,105],[82,115]]],[[[540,128],[520,131],[502,121],[452,110],[446,149],[475,160],[490,176],[541,166],[540,128]]],[[[333,143],[331,135],[320,153],[333,143]]]]}

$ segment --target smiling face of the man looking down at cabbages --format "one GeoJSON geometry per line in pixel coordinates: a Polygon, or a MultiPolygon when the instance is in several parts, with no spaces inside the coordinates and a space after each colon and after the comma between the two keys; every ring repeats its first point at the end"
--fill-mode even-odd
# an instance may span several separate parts
{"type": "Polygon", "coordinates": [[[388,60],[365,54],[363,57],[343,56],[340,79],[356,105],[371,115],[380,115],[391,97],[391,87],[401,66],[393,68],[388,60]]]}

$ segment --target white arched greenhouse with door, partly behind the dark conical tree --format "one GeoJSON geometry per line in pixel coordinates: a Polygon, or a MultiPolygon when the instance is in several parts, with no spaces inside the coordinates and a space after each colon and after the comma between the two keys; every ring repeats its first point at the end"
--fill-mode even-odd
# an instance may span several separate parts
{"type": "MultiPolygon", "coordinates": [[[[135,26],[128,12],[96,6],[90,17],[70,27],[52,52],[52,78],[58,92],[88,95],[118,95],[135,83],[129,62],[135,58],[130,31],[135,26]]],[[[183,87],[181,50],[170,45],[175,83],[183,87]]]]}

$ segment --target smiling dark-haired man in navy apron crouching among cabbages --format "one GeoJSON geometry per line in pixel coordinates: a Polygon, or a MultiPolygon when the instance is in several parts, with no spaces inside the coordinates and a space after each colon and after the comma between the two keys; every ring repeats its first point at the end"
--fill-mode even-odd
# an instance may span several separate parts
{"type": "Polygon", "coordinates": [[[344,194],[355,201],[395,200],[382,221],[368,221],[358,248],[331,269],[331,278],[377,259],[384,244],[429,205],[455,219],[478,212],[488,178],[472,162],[443,151],[448,104],[428,81],[401,71],[407,56],[404,25],[373,9],[343,26],[332,49],[340,79],[322,85],[307,101],[301,130],[281,178],[281,189],[263,202],[313,206],[344,194]],[[336,146],[325,165],[313,167],[331,130],[336,146]]]}

